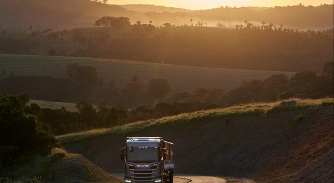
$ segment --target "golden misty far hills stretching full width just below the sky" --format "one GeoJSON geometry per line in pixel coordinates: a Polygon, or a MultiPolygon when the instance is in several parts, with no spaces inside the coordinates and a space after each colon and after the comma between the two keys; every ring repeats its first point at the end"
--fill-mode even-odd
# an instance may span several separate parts
{"type": "Polygon", "coordinates": [[[211,10],[189,11],[151,5],[105,5],[90,0],[1,0],[0,24],[3,27],[54,30],[77,27],[93,27],[94,21],[103,16],[129,17],[132,23],[141,21],[160,26],[169,22],[176,26],[190,25],[193,19],[215,27],[222,23],[226,28],[248,22],[259,25],[261,22],[284,25],[293,29],[321,30],[333,27],[333,5],[318,7],[292,6],[268,9],[256,8],[216,8],[211,10]],[[305,19],[307,17],[307,19],[305,19]]]}

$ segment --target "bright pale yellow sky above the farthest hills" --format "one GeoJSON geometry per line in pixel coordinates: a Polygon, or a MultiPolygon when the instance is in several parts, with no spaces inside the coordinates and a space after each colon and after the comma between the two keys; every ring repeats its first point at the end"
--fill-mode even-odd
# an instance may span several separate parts
{"type": "Polygon", "coordinates": [[[320,4],[333,4],[332,0],[109,0],[109,4],[126,5],[126,4],[149,4],[162,5],[167,7],[186,8],[192,10],[211,9],[220,6],[242,7],[274,7],[285,5],[303,5],[317,6],[320,4]]]}

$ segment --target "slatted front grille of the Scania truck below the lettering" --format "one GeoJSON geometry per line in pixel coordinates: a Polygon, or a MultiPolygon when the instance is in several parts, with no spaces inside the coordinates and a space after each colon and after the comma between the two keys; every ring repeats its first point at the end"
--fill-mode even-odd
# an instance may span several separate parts
{"type": "Polygon", "coordinates": [[[157,169],[130,169],[132,182],[154,182],[157,169]]]}

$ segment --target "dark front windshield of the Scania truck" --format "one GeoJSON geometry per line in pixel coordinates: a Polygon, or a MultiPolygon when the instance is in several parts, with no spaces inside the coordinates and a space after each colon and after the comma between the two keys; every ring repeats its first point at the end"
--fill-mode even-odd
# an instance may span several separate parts
{"type": "Polygon", "coordinates": [[[128,148],[127,149],[127,161],[158,161],[159,150],[154,147],[142,147],[142,148],[128,148]]]}

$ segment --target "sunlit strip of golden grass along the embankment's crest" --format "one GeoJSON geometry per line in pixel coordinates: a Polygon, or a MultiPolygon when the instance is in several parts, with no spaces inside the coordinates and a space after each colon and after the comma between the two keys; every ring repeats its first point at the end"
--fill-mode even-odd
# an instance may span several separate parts
{"type": "MultiPolygon", "coordinates": [[[[123,126],[116,126],[113,128],[101,128],[101,129],[93,129],[77,133],[70,133],[58,136],[57,139],[61,144],[68,144],[108,134],[127,134],[130,132],[139,131],[154,126],[159,126],[164,123],[180,123],[180,127],[182,127],[182,125],[191,124],[194,122],[222,119],[233,116],[249,115],[257,118],[260,115],[266,116],[270,115],[271,113],[276,113],[280,111],[295,111],[295,110],[309,109],[309,108],[324,106],[323,104],[325,104],[325,106],[328,106],[332,105],[333,101],[334,101],[333,98],[322,98],[322,99],[291,98],[277,102],[249,103],[249,104],[231,106],[227,108],[202,110],[192,113],[166,116],[160,119],[138,121],[123,126]]],[[[298,117],[298,119],[296,120],[300,120],[299,118],[301,117],[298,117]]],[[[226,121],[224,122],[227,123],[226,121]]]]}

